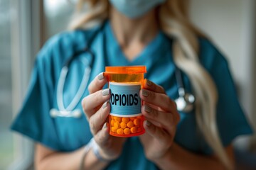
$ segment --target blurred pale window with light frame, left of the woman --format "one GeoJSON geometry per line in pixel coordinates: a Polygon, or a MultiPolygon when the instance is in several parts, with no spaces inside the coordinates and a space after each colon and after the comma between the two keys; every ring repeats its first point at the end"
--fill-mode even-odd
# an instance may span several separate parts
{"type": "Polygon", "coordinates": [[[39,2],[0,0],[0,169],[28,169],[33,143],[11,132],[40,46],[39,2]]]}

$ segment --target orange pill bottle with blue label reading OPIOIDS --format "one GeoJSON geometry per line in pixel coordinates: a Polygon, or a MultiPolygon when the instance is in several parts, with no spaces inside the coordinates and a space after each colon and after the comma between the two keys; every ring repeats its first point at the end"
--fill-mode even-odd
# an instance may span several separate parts
{"type": "Polygon", "coordinates": [[[105,71],[111,91],[110,135],[132,137],[144,134],[139,90],[146,67],[106,67],[105,71]]]}

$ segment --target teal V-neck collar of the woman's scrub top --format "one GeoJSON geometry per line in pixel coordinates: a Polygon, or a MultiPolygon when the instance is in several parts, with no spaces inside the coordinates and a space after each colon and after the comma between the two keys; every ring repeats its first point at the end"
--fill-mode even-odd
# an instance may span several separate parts
{"type": "Polygon", "coordinates": [[[154,60],[154,58],[151,57],[157,56],[153,54],[157,51],[159,47],[161,47],[161,44],[164,39],[164,34],[161,32],[161,30],[159,30],[159,32],[156,34],[153,40],[151,40],[151,42],[149,42],[149,44],[144,47],[144,49],[142,50],[142,52],[139,53],[139,55],[134,57],[133,60],[128,60],[127,57],[124,55],[122,47],[119,45],[117,38],[114,35],[110,21],[107,21],[106,33],[107,45],[110,45],[109,48],[111,48],[108,50],[110,53],[109,57],[112,58],[111,63],[113,65],[142,65],[145,63],[145,60],[154,60]]]}

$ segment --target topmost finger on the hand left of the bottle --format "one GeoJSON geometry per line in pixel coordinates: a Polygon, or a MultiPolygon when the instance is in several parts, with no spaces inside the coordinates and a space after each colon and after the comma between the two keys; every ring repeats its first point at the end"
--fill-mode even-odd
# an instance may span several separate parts
{"type": "Polygon", "coordinates": [[[104,72],[100,73],[92,80],[92,82],[88,86],[88,91],[90,94],[95,93],[103,88],[103,86],[107,83],[107,77],[105,77],[104,72]]]}

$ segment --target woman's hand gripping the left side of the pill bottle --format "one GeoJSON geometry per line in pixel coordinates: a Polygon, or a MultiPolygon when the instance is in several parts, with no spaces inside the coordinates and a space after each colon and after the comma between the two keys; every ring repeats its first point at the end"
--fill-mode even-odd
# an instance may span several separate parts
{"type": "Polygon", "coordinates": [[[121,154],[125,138],[109,134],[107,118],[110,114],[110,89],[102,90],[106,83],[107,78],[103,73],[95,77],[88,87],[90,95],[82,99],[82,108],[95,142],[100,147],[100,156],[114,160],[121,154]]]}

